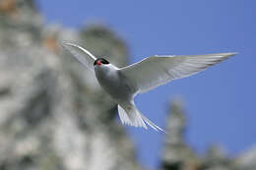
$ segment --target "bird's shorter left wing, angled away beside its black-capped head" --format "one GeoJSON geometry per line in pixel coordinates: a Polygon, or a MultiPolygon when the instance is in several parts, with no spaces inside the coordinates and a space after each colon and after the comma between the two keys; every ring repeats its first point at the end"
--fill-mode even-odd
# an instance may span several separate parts
{"type": "Polygon", "coordinates": [[[73,43],[63,43],[62,46],[87,69],[94,72],[94,62],[96,61],[96,57],[91,52],[73,43]]]}

